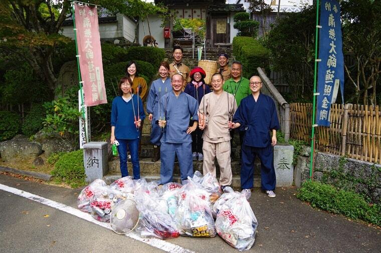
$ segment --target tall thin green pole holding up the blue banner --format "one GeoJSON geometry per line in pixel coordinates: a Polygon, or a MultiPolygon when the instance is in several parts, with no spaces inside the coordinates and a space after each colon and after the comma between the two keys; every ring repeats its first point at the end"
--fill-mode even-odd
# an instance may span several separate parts
{"type": "Polygon", "coordinates": [[[317,72],[317,45],[318,45],[318,31],[319,31],[319,0],[316,0],[316,34],[315,34],[315,68],[313,74],[313,105],[312,105],[312,133],[311,133],[311,155],[310,155],[310,180],[313,178],[313,165],[314,165],[314,153],[315,153],[315,110],[316,110],[316,72],[317,72]]]}

